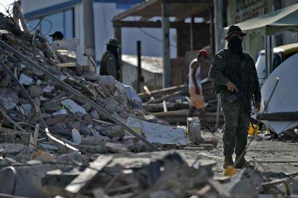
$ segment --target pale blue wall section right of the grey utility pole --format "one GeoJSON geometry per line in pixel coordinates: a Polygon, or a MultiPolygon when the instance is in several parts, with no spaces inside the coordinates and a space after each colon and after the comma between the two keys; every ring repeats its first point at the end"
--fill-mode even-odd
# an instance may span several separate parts
{"type": "MultiPolygon", "coordinates": [[[[113,1],[113,0],[110,0],[113,1]]],[[[96,43],[96,61],[99,63],[100,57],[106,50],[106,42],[109,38],[114,37],[114,28],[112,19],[115,15],[125,11],[133,5],[119,4],[115,2],[102,2],[102,0],[95,0],[94,2],[94,25],[95,25],[95,43],[96,43]]],[[[138,20],[130,17],[127,20],[138,20]]],[[[160,57],[162,56],[161,43],[161,28],[122,28],[122,54],[136,55],[137,41],[142,42],[142,56],[160,57]],[[146,32],[146,33],[144,33],[146,32]],[[159,39],[156,40],[152,37],[159,39]]],[[[170,30],[170,42],[172,44],[170,53],[174,58],[177,55],[176,51],[176,32],[174,29],[170,30]]]]}

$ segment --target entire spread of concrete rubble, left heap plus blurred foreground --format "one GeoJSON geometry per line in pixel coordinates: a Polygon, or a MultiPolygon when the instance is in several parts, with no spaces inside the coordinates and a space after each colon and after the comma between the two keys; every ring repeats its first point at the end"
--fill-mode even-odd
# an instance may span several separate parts
{"type": "MultiPolygon", "coordinates": [[[[280,191],[297,194],[296,180],[268,181],[258,171],[246,169],[232,178],[214,177],[214,161],[189,161],[174,151],[131,155],[157,147],[212,150],[217,142],[201,140],[200,147],[185,147],[189,140],[183,130],[141,110],[141,100],[131,87],[112,76],[95,75],[73,57],[68,59],[67,53],[58,59],[62,54],[54,52],[42,36],[21,32],[10,20],[0,14],[0,113],[5,118],[0,127],[0,179],[7,181],[0,187],[0,196],[254,198],[280,191]],[[277,185],[282,186],[274,191],[272,186],[277,185]]],[[[169,98],[160,96],[155,101],[169,98]]],[[[193,126],[192,130],[198,129],[193,126]]]]}

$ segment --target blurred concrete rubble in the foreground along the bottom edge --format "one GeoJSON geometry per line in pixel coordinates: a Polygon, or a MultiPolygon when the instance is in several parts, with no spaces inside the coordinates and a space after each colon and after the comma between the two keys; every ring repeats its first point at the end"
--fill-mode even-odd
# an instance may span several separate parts
{"type": "Polygon", "coordinates": [[[128,157],[55,155],[23,144],[0,144],[0,194],[30,198],[271,198],[298,195],[298,181],[268,181],[242,169],[215,176],[212,160],[175,151],[128,157]]]}

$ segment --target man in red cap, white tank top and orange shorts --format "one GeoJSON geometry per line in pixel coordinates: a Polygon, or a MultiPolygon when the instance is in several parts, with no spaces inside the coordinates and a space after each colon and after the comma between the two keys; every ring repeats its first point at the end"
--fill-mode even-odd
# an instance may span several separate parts
{"type": "Polygon", "coordinates": [[[187,113],[188,118],[193,117],[194,111],[199,109],[201,113],[200,119],[205,120],[205,103],[201,85],[201,66],[205,63],[207,58],[208,52],[206,50],[200,50],[197,58],[189,64],[188,88],[190,94],[190,108],[187,113]]]}

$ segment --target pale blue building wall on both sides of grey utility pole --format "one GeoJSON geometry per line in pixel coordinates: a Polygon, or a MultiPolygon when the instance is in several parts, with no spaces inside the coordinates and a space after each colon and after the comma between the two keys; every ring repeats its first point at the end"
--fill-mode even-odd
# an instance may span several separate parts
{"type": "MultiPolygon", "coordinates": [[[[106,43],[109,38],[114,37],[112,18],[126,9],[134,6],[135,3],[144,0],[93,0],[94,9],[94,31],[95,31],[95,56],[96,63],[100,65],[102,54],[106,50],[106,43]]],[[[74,37],[79,39],[78,62],[85,65],[86,60],[81,55],[84,52],[84,24],[82,0],[22,0],[22,10],[27,20],[34,20],[32,26],[38,24],[41,16],[60,12],[64,9],[74,8],[74,37]]],[[[130,18],[129,20],[137,20],[130,18]]],[[[58,23],[59,21],[55,21],[58,23]]],[[[46,23],[46,22],[45,22],[46,23]]],[[[53,23],[54,24],[54,23],[53,23]]],[[[54,33],[53,31],[50,32],[54,33]]],[[[137,54],[137,41],[142,41],[142,56],[162,56],[161,28],[122,28],[122,53],[137,54]],[[146,33],[144,33],[144,31],[146,33]],[[157,39],[153,38],[156,37],[157,39]]],[[[176,31],[170,30],[171,57],[175,58],[176,31]]],[[[50,40],[50,37],[48,37],[50,40]]],[[[51,42],[51,41],[50,41],[51,42]]]]}

